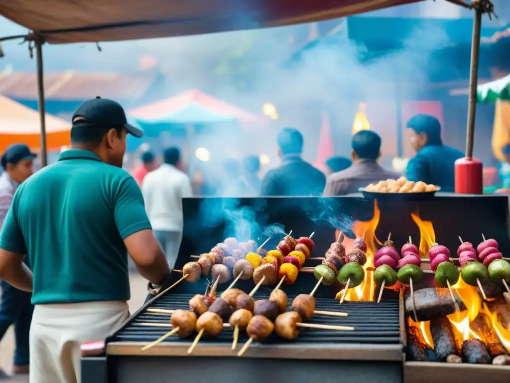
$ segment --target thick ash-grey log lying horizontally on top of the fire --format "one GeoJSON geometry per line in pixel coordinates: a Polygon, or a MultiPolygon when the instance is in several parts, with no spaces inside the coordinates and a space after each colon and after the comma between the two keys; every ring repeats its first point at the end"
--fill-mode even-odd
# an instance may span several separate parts
{"type": "MultiPolygon", "coordinates": [[[[465,310],[466,306],[464,306],[462,300],[458,296],[456,298],[460,310],[465,310]]],[[[415,306],[420,322],[444,317],[455,312],[455,306],[448,289],[425,288],[416,290],[415,306]]],[[[405,313],[409,316],[414,316],[413,302],[409,293],[405,296],[405,313]]],[[[444,357],[446,358],[446,355],[444,357]]]]}

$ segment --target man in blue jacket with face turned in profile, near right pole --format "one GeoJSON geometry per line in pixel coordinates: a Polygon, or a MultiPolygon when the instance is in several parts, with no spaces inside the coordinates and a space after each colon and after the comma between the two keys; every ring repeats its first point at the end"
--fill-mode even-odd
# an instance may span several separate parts
{"type": "Polygon", "coordinates": [[[430,114],[417,114],[407,122],[411,147],[416,155],[407,162],[405,177],[441,186],[442,192],[455,191],[455,161],[464,157],[458,149],[443,145],[441,124],[430,114]]]}

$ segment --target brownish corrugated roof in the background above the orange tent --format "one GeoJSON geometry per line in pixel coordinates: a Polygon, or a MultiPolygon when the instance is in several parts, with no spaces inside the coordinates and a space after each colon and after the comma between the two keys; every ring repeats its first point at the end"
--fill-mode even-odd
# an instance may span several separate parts
{"type": "MultiPolygon", "coordinates": [[[[116,100],[138,99],[143,97],[154,81],[155,75],[148,73],[46,73],[44,96],[47,100],[84,100],[97,95],[116,100]]],[[[37,100],[36,74],[0,72],[0,94],[13,99],[37,100]]]]}

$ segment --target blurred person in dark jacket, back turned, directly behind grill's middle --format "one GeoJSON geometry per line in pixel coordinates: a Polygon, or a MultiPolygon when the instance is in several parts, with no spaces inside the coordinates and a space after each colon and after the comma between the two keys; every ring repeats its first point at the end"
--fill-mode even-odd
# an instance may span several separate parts
{"type": "Polygon", "coordinates": [[[324,174],[303,161],[303,136],[294,128],[283,128],[277,137],[282,163],[266,173],[261,196],[320,195],[326,184],[324,174]]]}

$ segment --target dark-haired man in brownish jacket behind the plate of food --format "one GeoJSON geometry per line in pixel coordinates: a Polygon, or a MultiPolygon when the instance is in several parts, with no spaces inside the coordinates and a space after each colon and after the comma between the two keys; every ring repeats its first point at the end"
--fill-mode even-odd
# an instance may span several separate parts
{"type": "Polygon", "coordinates": [[[334,173],[327,179],[324,196],[344,196],[358,193],[360,187],[388,178],[397,179],[399,174],[385,170],[377,163],[381,152],[381,138],[371,130],[362,130],[352,136],[352,165],[334,173]]]}

